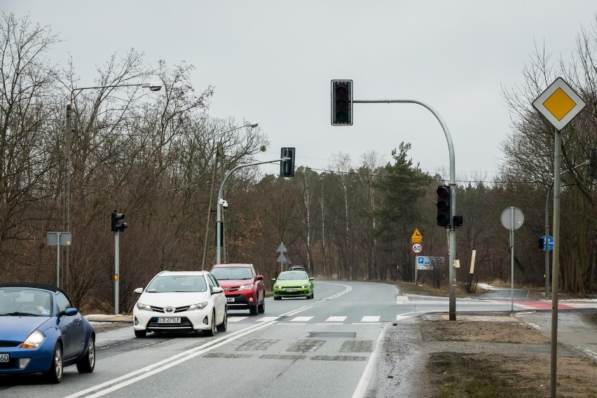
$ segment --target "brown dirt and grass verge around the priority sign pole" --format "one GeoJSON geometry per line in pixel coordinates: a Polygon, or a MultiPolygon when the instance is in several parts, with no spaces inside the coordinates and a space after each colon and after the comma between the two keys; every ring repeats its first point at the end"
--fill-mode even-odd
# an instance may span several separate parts
{"type": "MultiPolygon", "coordinates": [[[[597,314],[582,316],[597,324],[597,314]]],[[[420,322],[429,355],[423,380],[432,382],[433,396],[549,397],[549,338],[512,317],[473,318],[448,321],[438,315],[420,322]]],[[[597,397],[597,364],[591,359],[558,347],[557,373],[558,397],[597,397]]]]}

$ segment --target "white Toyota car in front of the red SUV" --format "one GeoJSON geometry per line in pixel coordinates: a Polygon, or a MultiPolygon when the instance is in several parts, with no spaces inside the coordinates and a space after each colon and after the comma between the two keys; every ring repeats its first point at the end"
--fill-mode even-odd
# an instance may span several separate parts
{"type": "Polygon", "coordinates": [[[207,271],[162,271],[141,294],[132,310],[135,336],[148,331],[203,331],[214,336],[226,331],[226,296],[214,276],[207,271]]]}

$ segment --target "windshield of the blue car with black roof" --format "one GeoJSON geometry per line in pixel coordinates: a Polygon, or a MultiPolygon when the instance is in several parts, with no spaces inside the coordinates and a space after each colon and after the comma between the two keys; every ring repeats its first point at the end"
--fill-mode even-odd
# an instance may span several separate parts
{"type": "Polygon", "coordinates": [[[47,317],[52,313],[50,291],[10,287],[0,289],[0,316],[47,317]]]}

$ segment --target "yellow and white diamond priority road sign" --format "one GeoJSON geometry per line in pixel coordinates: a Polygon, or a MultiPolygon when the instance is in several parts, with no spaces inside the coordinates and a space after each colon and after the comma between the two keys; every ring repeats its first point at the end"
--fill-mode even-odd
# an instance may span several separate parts
{"type": "Polygon", "coordinates": [[[533,107],[540,111],[557,130],[563,130],[586,107],[586,102],[563,78],[558,77],[533,101],[533,107]]]}

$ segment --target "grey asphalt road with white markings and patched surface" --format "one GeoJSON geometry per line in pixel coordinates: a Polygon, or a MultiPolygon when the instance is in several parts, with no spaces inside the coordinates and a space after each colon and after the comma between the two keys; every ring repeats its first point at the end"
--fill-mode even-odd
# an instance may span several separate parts
{"type": "MultiPolygon", "coordinates": [[[[509,293],[509,291],[507,292],[509,293]]],[[[457,311],[509,310],[507,297],[457,301],[457,311]]],[[[0,377],[0,397],[364,397],[383,330],[448,299],[402,296],[391,284],[315,282],[315,299],[266,301],[266,312],[230,311],[228,331],[97,334],[91,374],[65,370],[60,385],[39,376],[0,377]]]]}

